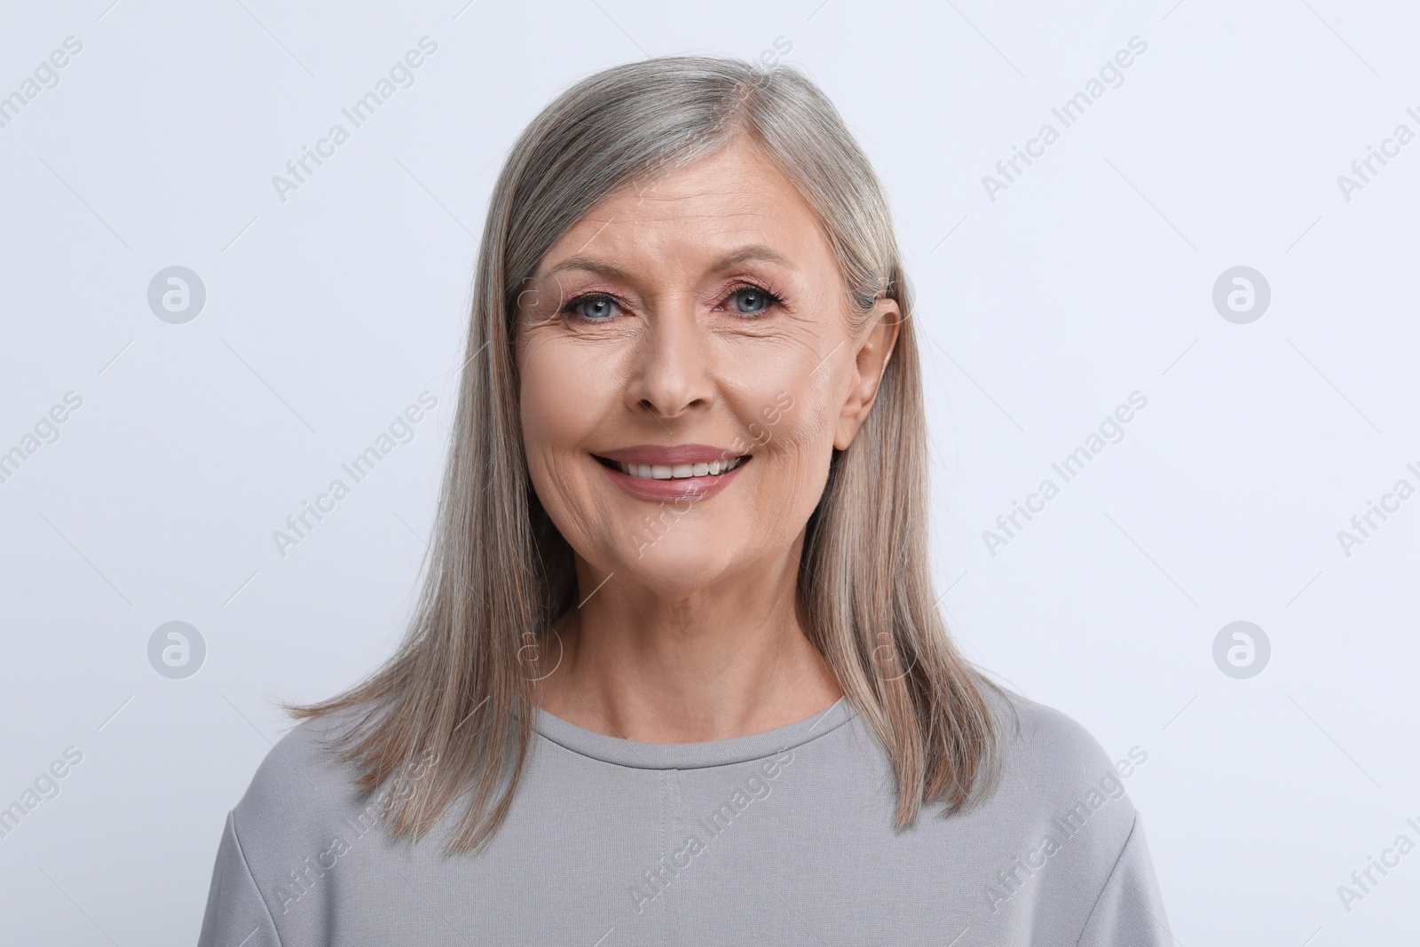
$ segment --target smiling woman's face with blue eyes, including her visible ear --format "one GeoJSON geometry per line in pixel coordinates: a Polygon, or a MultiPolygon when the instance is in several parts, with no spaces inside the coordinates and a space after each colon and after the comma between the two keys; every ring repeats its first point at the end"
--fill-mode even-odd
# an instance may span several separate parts
{"type": "MultiPolygon", "coordinates": [[[[797,562],[896,304],[849,334],[812,209],[743,139],[605,199],[520,297],[532,486],[595,569],[665,595],[797,562]]],[[[589,591],[589,589],[586,589],[589,591]]]]}

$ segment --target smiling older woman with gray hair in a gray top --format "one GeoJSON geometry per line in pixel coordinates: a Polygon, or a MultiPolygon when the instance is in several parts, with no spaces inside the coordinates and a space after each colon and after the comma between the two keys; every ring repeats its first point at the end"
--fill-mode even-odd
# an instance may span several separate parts
{"type": "Polygon", "coordinates": [[[1120,775],[953,647],[882,186],[791,67],[521,135],[409,633],[293,707],[200,943],[1170,943],[1120,775]]]}

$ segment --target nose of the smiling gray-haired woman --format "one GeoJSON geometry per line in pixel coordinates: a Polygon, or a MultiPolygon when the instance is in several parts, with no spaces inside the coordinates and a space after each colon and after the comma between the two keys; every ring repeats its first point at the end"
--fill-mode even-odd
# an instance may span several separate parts
{"type": "Polygon", "coordinates": [[[628,407],[670,419],[714,400],[710,339],[689,304],[655,312],[629,358],[628,407]]]}

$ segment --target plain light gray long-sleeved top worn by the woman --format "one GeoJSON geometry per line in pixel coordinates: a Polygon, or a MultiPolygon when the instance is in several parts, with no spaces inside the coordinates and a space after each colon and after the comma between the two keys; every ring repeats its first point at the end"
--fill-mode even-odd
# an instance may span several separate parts
{"type": "Polygon", "coordinates": [[[1110,760],[1011,701],[995,792],[947,818],[923,806],[902,833],[888,755],[846,699],[690,744],[540,713],[508,819],[453,858],[457,804],[417,845],[390,841],[381,797],[314,743],[335,724],[307,721],[227,816],[199,947],[1172,944],[1123,791],[1147,752],[1110,760]]]}

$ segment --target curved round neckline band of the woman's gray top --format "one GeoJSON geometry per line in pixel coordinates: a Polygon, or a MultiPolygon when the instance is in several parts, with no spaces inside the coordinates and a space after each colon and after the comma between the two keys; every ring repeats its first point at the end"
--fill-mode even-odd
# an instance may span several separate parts
{"type": "Polygon", "coordinates": [[[635,770],[700,770],[724,767],[750,760],[763,760],[784,750],[801,747],[818,740],[855,716],[848,696],[834,701],[826,710],[795,720],[791,724],[751,733],[726,740],[704,740],[700,743],[646,743],[622,740],[595,730],[578,727],[541,707],[537,708],[534,728],[544,738],[564,750],[591,757],[602,762],[635,770]]]}

